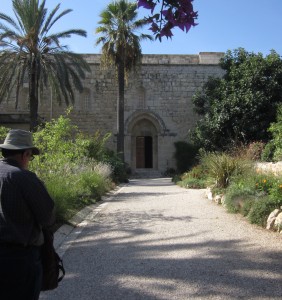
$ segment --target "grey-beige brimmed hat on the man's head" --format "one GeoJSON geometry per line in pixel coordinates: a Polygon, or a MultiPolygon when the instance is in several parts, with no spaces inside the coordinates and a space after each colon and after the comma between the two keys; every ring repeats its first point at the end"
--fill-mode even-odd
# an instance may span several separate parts
{"type": "Polygon", "coordinates": [[[0,148],[8,150],[31,149],[32,154],[39,154],[39,149],[33,145],[32,133],[21,129],[10,130],[7,134],[4,144],[0,144],[0,148]]]}

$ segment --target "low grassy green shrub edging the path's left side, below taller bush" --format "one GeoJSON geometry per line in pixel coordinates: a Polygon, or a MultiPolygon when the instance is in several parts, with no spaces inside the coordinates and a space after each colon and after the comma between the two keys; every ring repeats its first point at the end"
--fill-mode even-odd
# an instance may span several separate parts
{"type": "MultiPolygon", "coordinates": [[[[36,159],[32,165],[38,163],[36,159]]],[[[56,203],[56,219],[59,223],[67,222],[85,205],[99,201],[101,196],[113,187],[108,165],[86,158],[77,160],[76,163],[61,163],[62,161],[58,160],[56,168],[48,169],[45,173],[38,169],[40,178],[45,182],[56,203]]]]}

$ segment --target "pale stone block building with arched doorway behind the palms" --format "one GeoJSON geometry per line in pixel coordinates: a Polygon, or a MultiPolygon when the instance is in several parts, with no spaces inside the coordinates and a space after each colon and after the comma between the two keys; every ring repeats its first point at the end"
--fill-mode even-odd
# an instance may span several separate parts
{"type": "MultiPolygon", "coordinates": [[[[100,55],[85,54],[91,65],[82,94],[76,94],[71,118],[90,134],[112,133],[108,147],[116,149],[117,83],[114,70],[100,68],[100,55]]],[[[222,76],[223,53],[198,55],[144,55],[136,73],[129,75],[125,90],[125,161],[132,172],[164,173],[175,168],[176,141],[188,141],[197,115],[192,96],[209,76],[222,76]]],[[[0,104],[0,124],[28,128],[28,87],[20,93],[17,110],[13,99],[0,104]]],[[[66,107],[46,90],[40,98],[39,115],[45,120],[64,114],[66,107]]]]}

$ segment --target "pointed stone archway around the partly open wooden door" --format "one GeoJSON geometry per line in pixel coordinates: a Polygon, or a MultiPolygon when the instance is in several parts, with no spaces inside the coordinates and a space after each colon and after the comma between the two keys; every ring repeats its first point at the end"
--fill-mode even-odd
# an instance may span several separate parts
{"type": "Polygon", "coordinates": [[[136,111],[125,122],[127,160],[136,169],[158,170],[158,139],[165,132],[163,120],[155,113],[136,111]]]}

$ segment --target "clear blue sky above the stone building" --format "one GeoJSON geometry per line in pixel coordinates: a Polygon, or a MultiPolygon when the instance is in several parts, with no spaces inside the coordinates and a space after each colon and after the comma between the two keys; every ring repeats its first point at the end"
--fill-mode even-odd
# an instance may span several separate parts
{"type": "MultiPolygon", "coordinates": [[[[95,28],[99,14],[110,0],[46,0],[47,7],[61,3],[60,11],[73,9],[54,25],[54,31],[84,29],[87,38],[65,40],[73,52],[100,53],[95,47],[95,28]]],[[[198,54],[226,52],[243,47],[249,52],[269,54],[274,49],[282,55],[282,0],[194,0],[199,25],[186,34],[174,29],[172,40],[142,42],[143,54],[198,54]]],[[[0,11],[13,16],[12,1],[0,0],[0,11]]],[[[139,9],[140,18],[149,11],[139,9]]],[[[144,29],[144,33],[149,33],[144,29]]]]}

